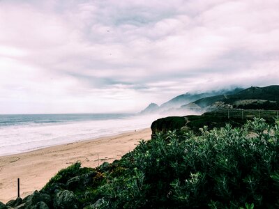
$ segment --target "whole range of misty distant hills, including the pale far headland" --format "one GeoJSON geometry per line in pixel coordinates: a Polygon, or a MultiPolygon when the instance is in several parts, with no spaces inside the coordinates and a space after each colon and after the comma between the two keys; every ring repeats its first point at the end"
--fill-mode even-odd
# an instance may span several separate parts
{"type": "Polygon", "coordinates": [[[160,106],[149,104],[142,114],[177,114],[212,109],[279,109],[279,85],[178,95],[160,106]]]}

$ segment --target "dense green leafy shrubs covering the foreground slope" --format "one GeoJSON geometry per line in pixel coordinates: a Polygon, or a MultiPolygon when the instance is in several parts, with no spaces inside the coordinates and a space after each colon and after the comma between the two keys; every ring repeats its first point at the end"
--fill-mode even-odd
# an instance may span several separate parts
{"type": "MultiPolygon", "coordinates": [[[[156,134],[112,164],[73,164],[24,200],[45,208],[278,208],[279,121],[156,134]],[[36,196],[36,198],[34,198],[36,196]],[[32,202],[33,201],[33,202],[32,202]]],[[[32,205],[33,204],[33,205],[32,205]]],[[[38,206],[36,206],[38,207],[38,206]]]]}

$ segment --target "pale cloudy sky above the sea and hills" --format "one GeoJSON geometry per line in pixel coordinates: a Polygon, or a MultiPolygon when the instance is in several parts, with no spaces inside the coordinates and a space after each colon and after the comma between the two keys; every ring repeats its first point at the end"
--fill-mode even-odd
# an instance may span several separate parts
{"type": "Polygon", "coordinates": [[[278,0],[0,0],[0,114],[278,84],[278,37],[278,0]]]}

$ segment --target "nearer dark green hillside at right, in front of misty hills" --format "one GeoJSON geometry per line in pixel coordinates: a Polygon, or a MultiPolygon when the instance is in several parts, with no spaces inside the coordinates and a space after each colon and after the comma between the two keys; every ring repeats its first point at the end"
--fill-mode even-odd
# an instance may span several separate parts
{"type": "Polygon", "coordinates": [[[194,103],[202,108],[279,109],[279,86],[252,86],[239,93],[202,98],[194,103]]]}

